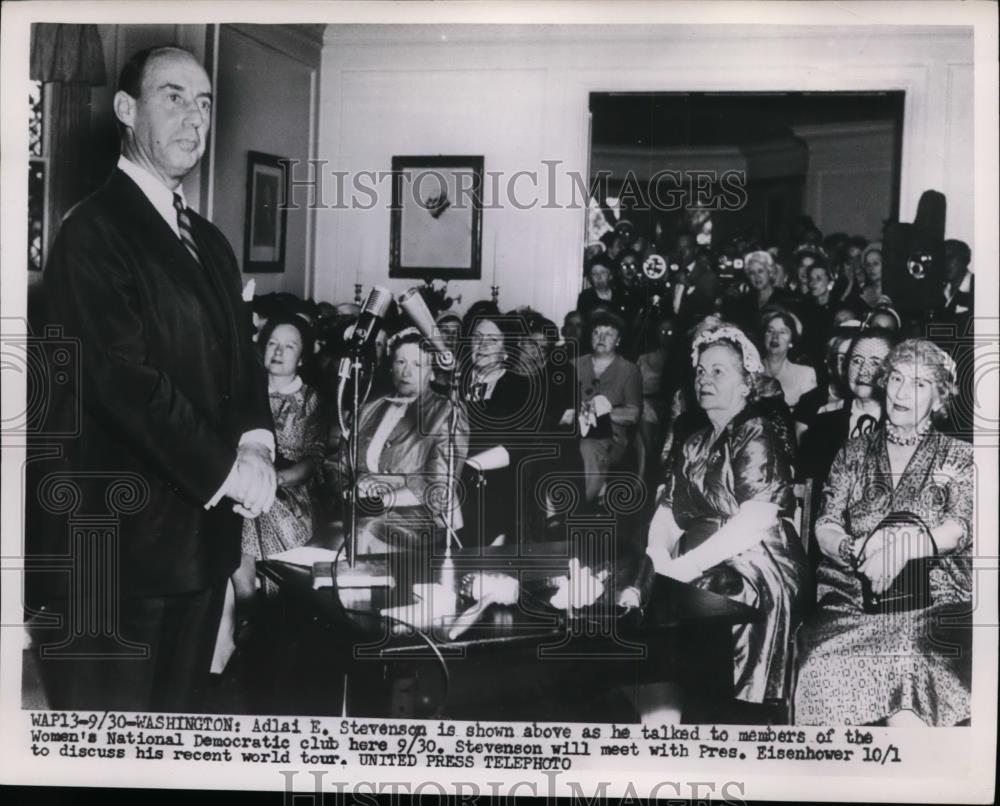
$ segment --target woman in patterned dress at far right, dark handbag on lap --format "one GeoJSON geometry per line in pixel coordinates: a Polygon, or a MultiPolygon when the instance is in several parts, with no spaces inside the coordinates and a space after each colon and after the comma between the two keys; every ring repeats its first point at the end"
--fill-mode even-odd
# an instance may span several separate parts
{"type": "Polygon", "coordinates": [[[844,446],[823,491],[817,609],[799,636],[796,722],[804,725],[954,725],[969,717],[971,647],[942,651],[954,640],[942,642],[936,626],[972,601],[972,446],[932,426],[955,392],[954,364],[911,339],[885,359],[879,386],[888,422],[844,446]],[[890,514],[910,525],[887,525],[890,514]],[[929,605],[866,613],[863,581],[881,594],[920,557],[937,557],[929,605]]]}

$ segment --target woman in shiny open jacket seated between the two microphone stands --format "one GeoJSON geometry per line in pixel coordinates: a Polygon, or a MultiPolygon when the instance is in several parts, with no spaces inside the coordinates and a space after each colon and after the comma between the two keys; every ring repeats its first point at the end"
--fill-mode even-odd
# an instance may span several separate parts
{"type": "MultiPolygon", "coordinates": [[[[457,509],[448,509],[452,407],[430,388],[434,348],[414,328],[397,333],[388,346],[394,393],[361,410],[356,473],[350,473],[347,451],[341,455],[343,477],[357,479],[358,509],[367,527],[359,530],[359,553],[441,542],[446,527],[461,525],[457,509]],[[378,512],[382,509],[384,513],[378,512]]],[[[458,478],[468,453],[469,426],[461,409],[455,417],[453,478],[458,478]]],[[[457,498],[452,505],[457,507],[457,498]]]]}

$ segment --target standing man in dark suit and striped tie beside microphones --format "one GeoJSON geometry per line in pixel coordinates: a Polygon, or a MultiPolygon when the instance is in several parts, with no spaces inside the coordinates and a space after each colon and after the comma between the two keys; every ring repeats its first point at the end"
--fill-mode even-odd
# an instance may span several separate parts
{"type": "Polygon", "coordinates": [[[129,60],[118,167],[67,215],[46,265],[49,322],[80,355],[52,415],[76,417],[76,435],[37,490],[43,551],[71,569],[48,599],[64,630],[36,638],[56,708],[197,708],[240,516],[274,498],[239,268],[181,187],[205,150],[211,90],[179,48],[129,60]]]}

